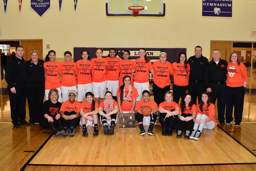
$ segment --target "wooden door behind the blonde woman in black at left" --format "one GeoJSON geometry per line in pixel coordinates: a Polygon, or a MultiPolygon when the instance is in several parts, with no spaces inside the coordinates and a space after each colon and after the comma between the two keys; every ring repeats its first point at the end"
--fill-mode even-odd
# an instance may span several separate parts
{"type": "Polygon", "coordinates": [[[20,45],[24,48],[23,58],[27,61],[30,60],[30,52],[37,50],[39,53],[38,58],[43,59],[43,40],[20,40],[20,45]]]}

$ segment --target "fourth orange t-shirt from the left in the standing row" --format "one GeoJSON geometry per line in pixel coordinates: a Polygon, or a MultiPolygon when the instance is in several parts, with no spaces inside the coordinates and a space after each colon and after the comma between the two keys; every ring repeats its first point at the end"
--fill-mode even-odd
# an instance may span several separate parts
{"type": "Polygon", "coordinates": [[[106,66],[108,61],[105,58],[92,58],[92,82],[104,82],[106,78],[106,66]]]}

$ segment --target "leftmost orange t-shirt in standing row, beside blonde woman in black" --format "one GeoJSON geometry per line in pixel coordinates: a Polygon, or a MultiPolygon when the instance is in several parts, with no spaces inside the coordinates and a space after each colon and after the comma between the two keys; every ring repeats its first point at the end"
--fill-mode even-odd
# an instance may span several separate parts
{"type": "Polygon", "coordinates": [[[59,72],[61,72],[61,65],[59,62],[47,61],[44,63],[44,69],[46,71],[45,76],[45,90],[61,87],[59,72]]]}

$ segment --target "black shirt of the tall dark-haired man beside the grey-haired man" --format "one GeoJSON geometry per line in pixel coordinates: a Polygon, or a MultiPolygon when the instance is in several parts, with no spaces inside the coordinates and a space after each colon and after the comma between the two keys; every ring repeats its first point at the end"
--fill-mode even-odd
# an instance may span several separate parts
{"type": "Polygon", "coordinates": [[[187,63],[190,66],[189,79],[194,81],[203,81],[205,79],[205,68],[208,65],[208,59],[204,56],[197,58],[195,55],[188,58],[187,63]]]}

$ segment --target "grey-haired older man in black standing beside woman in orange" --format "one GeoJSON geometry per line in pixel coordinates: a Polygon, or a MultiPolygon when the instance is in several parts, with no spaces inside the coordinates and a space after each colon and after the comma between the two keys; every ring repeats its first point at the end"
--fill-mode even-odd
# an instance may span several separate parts
{"type": "Polygon", "coordinates": [[[216,99],[218,107],[218,120],[220,124],[225,124],[225,85],[227,79],[227,66],[228,62],[220,59],[220,51],[215,49],[212,52],[213,59],[208,63],[205,70],[205,87],[210,94],[210,98],[213,104],[216,99]]]}

